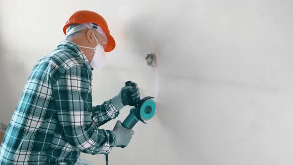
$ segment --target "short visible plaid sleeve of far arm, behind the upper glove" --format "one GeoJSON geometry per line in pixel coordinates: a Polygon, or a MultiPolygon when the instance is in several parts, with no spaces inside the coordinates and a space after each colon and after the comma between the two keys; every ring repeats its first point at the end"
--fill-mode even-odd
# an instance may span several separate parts
{"type": "Polygon", "coordinates": [[[92,120],[97,127],[115,119],[119,115],[119,109],[112,104],[111,100],[92,108],[92,120]]]}

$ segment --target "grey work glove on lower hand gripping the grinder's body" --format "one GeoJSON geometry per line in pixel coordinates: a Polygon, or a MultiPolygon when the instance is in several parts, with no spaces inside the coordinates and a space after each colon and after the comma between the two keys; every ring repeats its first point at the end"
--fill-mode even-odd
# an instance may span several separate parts
{"type": "Polygon", "coordinates": [[[134,131],[132,129],[124,128],[121,124],[122,122],[118,120],[113,129],[113,133],[116,137],[113,147],[126,147],[129,144],[132,135],[134,135],[134,131]]]}

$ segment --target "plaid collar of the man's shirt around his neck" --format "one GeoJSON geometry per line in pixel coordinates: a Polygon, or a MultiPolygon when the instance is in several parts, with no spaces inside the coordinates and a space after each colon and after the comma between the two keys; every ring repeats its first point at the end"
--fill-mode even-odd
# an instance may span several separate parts
{"type": "Polygon", "coordinates": [[[91,65],[89,64],[86,56],[83,54],[83,52],[79,49],[78,45],[73,43],[73,42],[70,42],[70,41],[67,41],[67,40],[64,40],[62,41],[59,45],[58,45],[58,48],[69,48],[71,49],[73,52],[77,53],[77,55],[79,57],[81,57],[84,61],[85,61],[85,64],[87,64],[87,67],[89,69],[91,69],[93,71],[93,68],[91,67],[91,65]]]}

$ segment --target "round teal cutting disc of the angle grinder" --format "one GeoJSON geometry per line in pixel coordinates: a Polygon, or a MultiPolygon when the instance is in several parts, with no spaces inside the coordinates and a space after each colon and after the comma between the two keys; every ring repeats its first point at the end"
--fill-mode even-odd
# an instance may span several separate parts
{"type": "Polygon", "coordinates": [[[142,99],[139,108],[140,108],[140,117],[141,120],[149,120],[153,117],[155,112],[155,102],[151,99],[154,97],[145,97],[142,99]]]}

